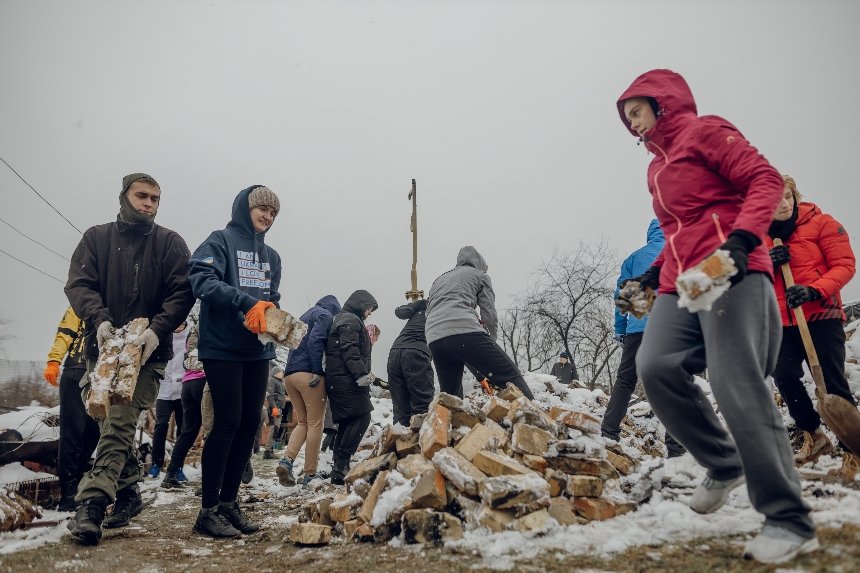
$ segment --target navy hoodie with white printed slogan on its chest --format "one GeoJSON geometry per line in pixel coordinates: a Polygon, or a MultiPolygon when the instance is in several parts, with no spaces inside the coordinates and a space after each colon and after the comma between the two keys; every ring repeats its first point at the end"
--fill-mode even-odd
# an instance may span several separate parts
{"type": "Polygon", "coordinates": [[[259,185],[241,191],[233,201],[227,226],[214,231],[197,247],[188,262],[194,296],[200,303],[201,360],[271,360],[275,348],[262,344],[245,328],[245,313],[258,301],[278,304],[281,295],[281,257],[265,244],[266,232],[254,231],[248,195],[259,185]]]}

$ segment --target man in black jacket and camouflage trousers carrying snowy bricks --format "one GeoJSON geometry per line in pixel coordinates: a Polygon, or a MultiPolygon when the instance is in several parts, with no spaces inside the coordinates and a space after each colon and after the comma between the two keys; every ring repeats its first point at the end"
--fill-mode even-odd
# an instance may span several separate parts
{"type": "Polygon", "coordinates": [[[84,353],[89,373],[114,328],[145,317],[149,327],[133,342],[141,367],[130,404],[112,404],[101,424],[93,469],[81,478],[75,517],[68,527],[85,544],[96,544],[107,528],[124,527],[143,511],[140,463],[134,429],[140,413],[158,394],[159,380],[173,357],[173,331],[194,304],[188,283],[188,246],[175,231],[155,223],[161,187],[145,173],[122,179],[117,220],[90,227],[72,255],[66,296],[87,325],[84,353]],[[107,506],[114,509],[105,518],[107,506]]]}

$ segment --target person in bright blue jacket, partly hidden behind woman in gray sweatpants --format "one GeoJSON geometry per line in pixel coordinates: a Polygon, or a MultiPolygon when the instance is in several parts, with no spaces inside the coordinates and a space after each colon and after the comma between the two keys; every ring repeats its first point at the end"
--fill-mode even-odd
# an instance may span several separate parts
{"type": "MultiPolygon", "coordinates": [[[[618,276],[614,298],[618,298],[621,285],[625,281],[638,277],[651,268],[654,259],[663,250],[665,242],[660,223],[657,219],[652,219],[651,224],[648,225],[646,245],[633,251],[621,263],[621,274],[618,276]]],[[[645,332],[647,323],[647,316],[636,318],[627,313],[622,313],[617,308],[615,309],[615,340],[622,345],[621,363],[618,365],[615,386],[612,387],[609,405],[606,406],[606,413],[603,415],[603,422],[600,426],[603,437],[610,440],[618,441],[621,437],[621,420],[627,414],[630,396],[636,388],[636,353],[642,343],[642,333],[645,332]]],[[[666,449],[670,458],[684,454],[684,446],[676,442],[669,434],[666,434],[666,449]]]]}

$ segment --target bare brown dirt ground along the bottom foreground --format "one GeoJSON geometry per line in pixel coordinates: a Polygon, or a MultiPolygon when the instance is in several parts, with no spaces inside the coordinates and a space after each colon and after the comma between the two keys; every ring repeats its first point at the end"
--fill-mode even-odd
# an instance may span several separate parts
{"type": "MultiPolygon", "coordinates": [[[[276,461],[254,456],[259,483],[276,482],[276,461]]],[[[266,497],[265,488],[243,486],[241,500],[266,497]]],[[[297,547],[288,541],[289,522],[300,513],[312,493],[247,503],[249,515],[266,527],[240,540],[216,541],[191,530],[200,498],[192,483],[181,493],[165,495],[147,486],[144,498],[151,502],[125,528],[105,530],[97,547],[82,547],[65,536],[56,544],[0,556],[0,572],[39,571],[322,571],[325,573],[381,572],[483,572],[492,571],[480,556],[457,549],[423,546],[346,543],[335,538],[325,547],[297,547]],[[285,507],[286,503],[286,507],[285,507]],[[284,518],[284,514],[289,516],[284,518]]],[[[271,486],[269,486],[271,487],[271,486]]],[[[275,486],[277,487],[277,486],[275,486]]],[[[175,491],[175,490],[174,490],[175,491]]],[[[319,492],[316,493],[319,495],[319,492]]],[[[860,527],[819,529],[824,548],[795,560],[782,571],[860,571],[860,527]]],[[[700,539],[684,546],[638,547],[610,559],[551,552],[521,561],[516,571],[601,572],[773,572],[779,568],[744,561],[739,556],[744,537],[700,539]]],[[[497,569],[496,569],[497,570],[497,569]]]]}

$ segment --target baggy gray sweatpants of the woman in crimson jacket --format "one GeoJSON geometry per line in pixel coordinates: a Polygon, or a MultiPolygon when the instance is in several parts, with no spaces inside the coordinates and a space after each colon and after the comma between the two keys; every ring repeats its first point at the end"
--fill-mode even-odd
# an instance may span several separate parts
{"type": "Polygon", "coordinates": [[[678,308],[677,295],[658,296],[636,367],[660,421],[710,477],[746,474],[750,501],[765,523],[809,538],[815,525],[766,383],[781,336],[773,285],[753,273],[709,312],[693,314],[678,308]],[[693,382],[692,374],[705,368],[728,432],[693,382]]]}

